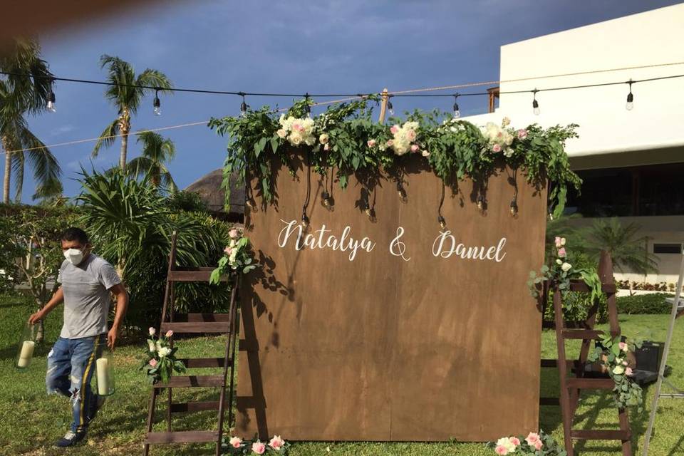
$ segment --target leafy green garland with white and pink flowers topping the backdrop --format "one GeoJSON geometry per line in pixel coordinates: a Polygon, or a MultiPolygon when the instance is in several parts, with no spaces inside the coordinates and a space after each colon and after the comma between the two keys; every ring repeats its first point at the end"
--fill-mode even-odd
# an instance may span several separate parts
{"type": "Polygon", "coordinates": [[[240,117],[209,120],[209,128],[228,137],[222,185],[227,206],[230,175],[237,172],[244,182],[248,170],[249,178],[258,179],[264,200],[272,202],[271,160],[279,158],[294,175],[291,146],[311,152],[311,165],[321,175],[336,170],[342,188],[348,176],[356,172],[400,167],[402,156],[410,151],[420,152],[446,185],[467,177],[486,180],[494,171],[497,157],[503,156],[507,165],[524,171],[530,184],[542,186],[549,180],[549,201],[555,216],[564,209],[567,188],[579,190],[581,179],[571,171],[564,150],[565,141],[576,137],[577,125],[543,129],[532,124],[516,131],[504,120],[501,127],[489,123],[478,128],[437,110],[415,110],[408,113],[404,123],[390,118],[389,125],[383,125],[373,120],[373,110],[368,107],[378,100],[371,95],[339,103],[316,118],[308,118],[310,102],[305,99],[281,116],[264,106],[240,117]]]}

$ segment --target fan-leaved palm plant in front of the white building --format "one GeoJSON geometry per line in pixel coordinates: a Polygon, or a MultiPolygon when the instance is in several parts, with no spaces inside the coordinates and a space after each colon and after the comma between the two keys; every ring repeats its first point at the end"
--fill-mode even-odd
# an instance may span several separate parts
{"type": "Polygon", "coordinates": [[[656,257],[648,252],[648,238],[638,236],[639,229],[641,227],[636,223],[623,226],[616,217],[597,219],[584,230],[584,249],[596,261],[601,250],[606,250],[611,254],[613,266],[619,271],[628,269],[637,274],[657,272],[656,257]]]}

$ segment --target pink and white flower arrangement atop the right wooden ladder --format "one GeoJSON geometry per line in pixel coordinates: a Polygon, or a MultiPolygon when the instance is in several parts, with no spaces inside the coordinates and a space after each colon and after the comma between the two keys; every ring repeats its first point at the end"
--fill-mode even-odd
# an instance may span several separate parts
{"type": "Polygon", "coordinates": [[[532,297],[539,297],[538,286],[546,280],[552,281],[561,293],[566,294],[570,291],[570,281],[572,279],[579,279],[591,289],[591,301],[598,299],[601,296],[601,279],[598,277],[595,269],[575,268],[568,261],[568,251],[566,249],[566,239],[564,237],[556,236],[554,239],[554,255],[551,258],[551,265],[544,264],[536,271],[529,272],[529,292],[532,297]]]}

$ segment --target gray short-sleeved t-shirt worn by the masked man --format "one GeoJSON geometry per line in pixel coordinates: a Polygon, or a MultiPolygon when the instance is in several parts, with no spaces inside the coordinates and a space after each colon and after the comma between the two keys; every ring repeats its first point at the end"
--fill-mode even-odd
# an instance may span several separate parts
{"type": "Polygon", "coordinates": [[[57,281],[64,292],[64,325],[60,336],[69,339],[107,332],[110,294],[121,283],[113,266],[95,254],[74,266],[64,260],[57,281]]]}

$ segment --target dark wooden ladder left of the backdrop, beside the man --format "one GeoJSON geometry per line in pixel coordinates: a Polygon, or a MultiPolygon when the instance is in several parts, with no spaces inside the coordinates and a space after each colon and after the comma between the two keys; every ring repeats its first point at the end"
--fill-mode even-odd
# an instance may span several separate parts
{"type": "MultiPolygon", "coordinates": [[[[229,312],[227,314],[174,314],[174,284],[176,282],[203,281],[209,282],[209,275],[214,268],[181,268],[176,266],[176,233],[171,239],[171,253],[166,278],[166,291],[162,308],[162,322],[160,333],[170,329],[175,334],[183,333],[215,333],[227,334],[225,355],[222,358],[183,358],[186,368],[223,368],[220,375],[173,375],[168,383],[155,383],[152,385],[150,397],[150,409],[147,414],[147,436],[145,437],[145,456],[150,453],[151,444],[167,443],[196,443],[216,442],[216,456],[221,454],[224,410],[228,408],[229,426],[232,423],[233,402],[233,369],[235,360],[235,346],[237,343],[237,276],[232,280],[232,292],[230,296],[229,312]],[[155,406],[157,396],[161,391],[167,390],[167,430],[166,432],[152,432],[154,424],[155,406]],[[221,388],[219,400],[196,401],[187,403],[173,403],[173,388],[221,388]],[[171,418],[175,413],[199,412],[202,410],[218,410],[217,430],[186,430],[172,431],[171,418]]],[[[222,277],[222,281],[229,281],[228,277],[222,277]]]]}

